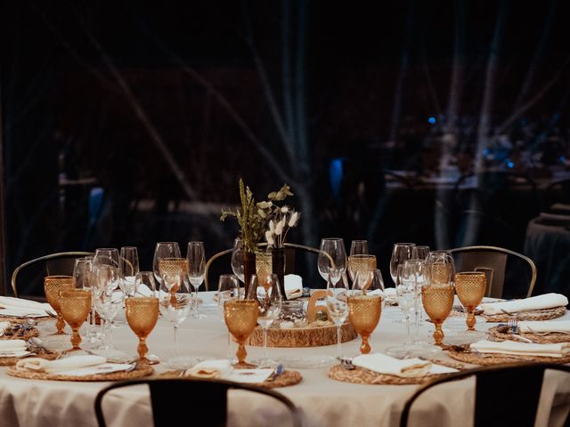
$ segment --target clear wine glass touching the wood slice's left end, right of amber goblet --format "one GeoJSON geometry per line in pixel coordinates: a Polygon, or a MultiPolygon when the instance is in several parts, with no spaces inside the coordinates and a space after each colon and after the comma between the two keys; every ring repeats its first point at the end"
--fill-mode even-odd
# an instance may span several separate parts
{"type": "Polygon", "coordinates": [[[276,274],[253,275],[248,287],[248,298],[258,302],[257,324],[264,332],[264,355],[255,363],[258,367],[275,367],[277,362],[267,356],[267,328],[281,313],[281,288],[276,274]]]}

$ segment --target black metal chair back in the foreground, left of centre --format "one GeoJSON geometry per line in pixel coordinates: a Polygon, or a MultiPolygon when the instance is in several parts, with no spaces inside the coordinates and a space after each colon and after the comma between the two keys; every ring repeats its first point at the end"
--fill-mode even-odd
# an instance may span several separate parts
{"type": "Polygon", "coordinates": [[[289,409],[294,427],[301,426],[300,413],[293,403],[281,393],[249,384],[232,383],[224,380],[201,379],[142,379],[114,383],[102,389],[95,398],[95,415],[100,427],[105,427],[102,400],[112,390],[133,385],[147,384],[151,391],[152,419],[155,427],[172,425],[172,396],[186,396],[184,411],[208,416],[207,425],[224,427],[227,418],[227,392],[230,389],[254,391],[279,400],[289,409]]]}

